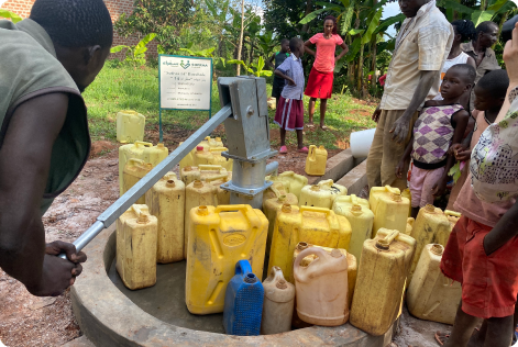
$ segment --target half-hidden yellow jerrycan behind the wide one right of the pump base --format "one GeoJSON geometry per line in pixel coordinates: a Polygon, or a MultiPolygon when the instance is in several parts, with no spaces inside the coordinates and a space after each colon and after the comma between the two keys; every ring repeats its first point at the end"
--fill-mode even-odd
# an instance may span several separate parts
{"type": "Polygon", "coordinates": [[[332,209],[334,199],[346,193],[348,189],[345,187],[328,179],[317,184],[304,187],[300,191],[299,205],[332,209]]]}

